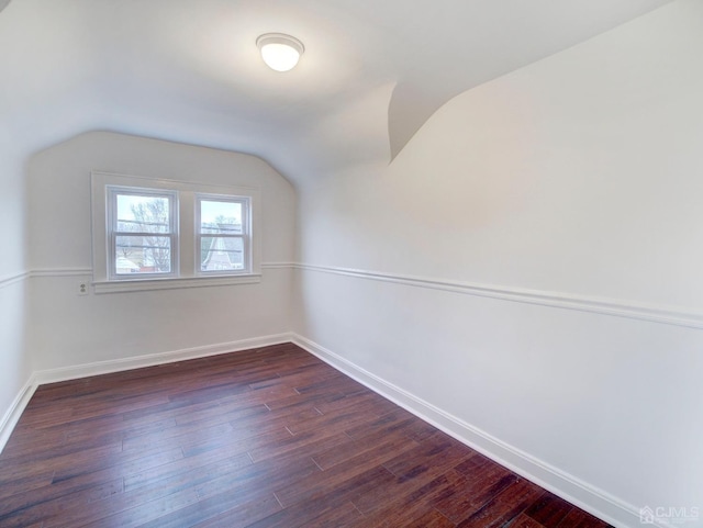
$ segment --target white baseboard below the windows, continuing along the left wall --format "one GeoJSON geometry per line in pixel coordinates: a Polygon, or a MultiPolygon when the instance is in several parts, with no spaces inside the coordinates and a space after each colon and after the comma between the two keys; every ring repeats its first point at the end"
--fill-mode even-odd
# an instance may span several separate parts
{"type": "Polygon", "coordinates": [[[153,367],[155,364],[174,363],[177,361],[186,361],[189,359],[204,358],[208,356],[217,356],[221,353],[237,352],[252,348],[268,347],[270,345],[279,345],[281,342],[291,342],[293,334],[283,333],[271,336],[255,337],[249,339],[241,339],[231,342],[219,342],[204,347],[185,348],[169,352],[149,353],[135,358],[115,359],[109,361],[97,361],[93,363],[77,364],[72,367],[64,367],[59,369],[40,370],[34,372],[19,394],[12,402],[10,408],[5,412],[2,422],[0,422],[0,452],[4,449],[10,435],[14,430],[20,416],[24,412],[30,398],[36,391],[38,385],[45,383],[56,383],[59,381],[77,380],[88,378],[90,375],[109,374],[112,372],[122,372],[125,370],[141,369],[143,367],[153,367]]]}

